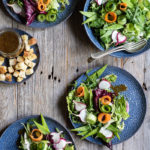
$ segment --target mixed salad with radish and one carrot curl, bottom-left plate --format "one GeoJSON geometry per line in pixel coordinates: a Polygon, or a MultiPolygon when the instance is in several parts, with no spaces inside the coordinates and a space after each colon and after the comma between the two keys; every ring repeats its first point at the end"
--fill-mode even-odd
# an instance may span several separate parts
{"type": "Polygon", "coordinates": [[[53,132],[49,130],[43,115],[22,125],[20,150],[74,150],[74,145],[65,139],[63,131],[58,128],[53,132]]]}

